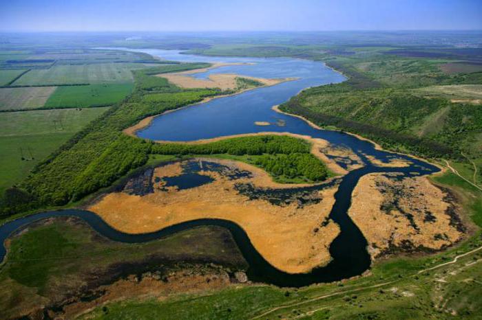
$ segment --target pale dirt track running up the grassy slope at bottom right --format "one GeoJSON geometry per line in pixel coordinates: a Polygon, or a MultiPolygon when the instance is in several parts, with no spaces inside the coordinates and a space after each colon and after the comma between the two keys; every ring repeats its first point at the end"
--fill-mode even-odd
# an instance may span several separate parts
{"type": "MultiPolygon", "coordinates": [[[[431,268],[426,268],[426,269],[423,269],[419,272],[417,272],[415,275],[411,275],[410,277],[415,277],[416,275],[419,275],[420,273],[424,273],[426,271],[431,271],[431,270],[434,270],[434,269],[437,269],[437,268],[441,268],[442,266],[447,266],[448,264],[454,264],[454,263],[457,263],[457,261],[459,260],[459,258],[463,258],[467,255],[470,255],[472,253],[475,253],[479,250],[482,250],[482,247],[479,247],[479,248],[476,248],[476,249],[473,249],[471,251],[468,251],[468,252],[465,252],[465,253],[462,253],[460,255],[457,255],[454,260],[452,261],[449,261],[449,262],[445,262],[443,264],[437,264],[437,266],[432,266],[431,268]]],[[[396,280],[392,280],[392,281],[388,281],[388,282],[382,282],[381,284],[374,284],[373,286],[366,286],[366,287],[362,287],[362,288],[357,288],[357,289],[353,289],[353,290],[344,290],[344,291],[338,291],[336,293],[330,293],[328,295],[321,295],[319,297],[315,297],[315,298],[312,298],[312,299],[308,299],[308,300],[304,300],[304,301],[300,301],[300,302],[296,302],[295,304],[285,304],[283,306],[278,306],[276,308],[273,308],[271,310],[268,310],[266,312],[263,312],[261,315],[257,315],[251,319],[260,319],[262,317],[265,317],[266,315],[269,315],[277,310],[282,310],[282,309],[286,309],[286,308],[293,308],[293,307],[296,307],[296,306],[301,306],[303,304],[308,304],[310,302],[313,302],[313,301],[317,301],[317,300],[322,300],[322,299],[326,299],[326,298],[329,298],[329,297],[336,297],[338,295],[348,295],[350,293],[357,293],[359,291],[362,291],[362,290],[366,290],[366,289],[373,289],[373,288],[379,288],[381,286],[387,286],[389,284],[394,284],[395,282],[400,282],[402,279],[396,279],[396,280]]]]}

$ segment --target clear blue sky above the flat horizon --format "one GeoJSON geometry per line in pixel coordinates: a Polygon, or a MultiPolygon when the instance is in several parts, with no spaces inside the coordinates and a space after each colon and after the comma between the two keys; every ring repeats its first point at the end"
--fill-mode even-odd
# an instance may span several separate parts
{"type": "Polygon", "coordinates": [[[482,0],[0,0],[0,31],[482,30],[482,0]]]}

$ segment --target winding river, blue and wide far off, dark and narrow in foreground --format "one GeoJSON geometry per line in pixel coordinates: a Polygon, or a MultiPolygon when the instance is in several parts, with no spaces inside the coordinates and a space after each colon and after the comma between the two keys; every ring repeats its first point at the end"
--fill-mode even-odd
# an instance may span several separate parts
{"type": "MultiPolygon", "coordinates": [[[[41,218],[52,216],[77,216],[85,220],[93,229],[109,239],[121,242],[145,242],[169,236],[178,231],[200,225],[219,225],[231,231],[238,244],[244,259],[249,264],[248,277],[252,281],[266,282],[277,286],[300,287],[319,282],[333,282],[361,275],[370,268],[371,260],[367,251],[368,243],[362,232],[348,216],[353,189],[359,179],[365,174],[373,172],[399,172],[404,176],[431,174],[439,171],[437,167],[408,157],[396,155],[391,152],[376,150],[369,141],[358,139],[353,135],[333,130],[318,130],[309,126],[304,120],[284,115],[272,110],[272,107],[286,102],[293,95],[308,87],[323,84],[338,83],[346,80],[342,74],[326,67],[322,62],[293,58],[225,58],[207,57],[181,54],[176,50],[136,49],[166,60],[183,62],[245,62],[244,65],[229,65],[206,72],[193,74],[196,78],[207,78],[211,73],[236,73],[240,76],[253,76],[259,78],[297,78],[297,80],[282,82],[272,87],[262,87],[245,91],[238,95],[211,100],[210,102],[196,104],[178,111],[156,117],[151,124],[139,130],[138,137],[165,140],[165,141],[193,141],[209,139],[242,133],[259,132],[289,132],[299,135],[309,135],[315,138],[326,139],[333,146],[349,148],[357,154],[366,164],[363,168],[353,170],[346,174],[339,189],[335,193],[335,204],[331,209],[330,218],[340,227],[340,233],[330,246],[332,260],[326,266],[313,269],[311,273],[289,274],[277,270],[262,255],[256,251],[244,230],[233,222],[219,219],[200,219],[184,222],[156,231],[154,233],[127,234],[109,227],[99,216],[84,210],[63,210],[56,212],[43,212],[24,218],[7,222],[0,227],[0,241],[3,243],[15,230],[25,227],[29,223],[41,218]],[[270,126],[256,126],[254,122],[270,122],[270,126]],[[399,158],[410,161],[405,168],[387,168],[373,165],[366,155],[370,155],[382,162],[399,158]]],[[[180,176],[171,183],[182,183],[189,187],[189,174],[180,176]],[[176,182],[177,181],[177,182],[176,182]]],[[[195,179],[195,178],[192,178],[195,179]]],[[[191,181],[204,183],[204,181],[191,181]]],[[[206,181],[209,182],[209,181],[206,181]]],[[[0,261],[6,255],[3,246],[0,247],[0,261]]]]}

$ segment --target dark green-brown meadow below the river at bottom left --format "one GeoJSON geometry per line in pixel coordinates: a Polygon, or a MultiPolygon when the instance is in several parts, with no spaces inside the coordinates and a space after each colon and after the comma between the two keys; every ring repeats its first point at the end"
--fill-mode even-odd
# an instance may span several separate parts
{"type": "MultiPolygon", "coordinates": [[[[220,227],[126,244],[99,237],[77,219],[35,222],[12,237],[8,258],[1,265],[0,313],[11,319],[25,315],[29,308],[53,307],[72,296],[88,299],[99,284],[133,273],[156,271],[163,281],[172,271],[193,268],[186,261],[213,262],[231,271],[246,267],[230,233],[220,227]]],[[[198,268],[199,273],[219,271],[198,268]]]]}

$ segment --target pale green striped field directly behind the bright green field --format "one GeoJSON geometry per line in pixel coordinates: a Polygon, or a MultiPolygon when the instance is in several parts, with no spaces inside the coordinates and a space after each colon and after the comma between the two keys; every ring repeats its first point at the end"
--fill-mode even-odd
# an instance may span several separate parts
{"type": "Polygon", "coordinates": [[[89,65],[54,65],[50,69],[29,71],[12,85],[123,83],[132,82],[133,63],[94,63],[89,65]]]}

